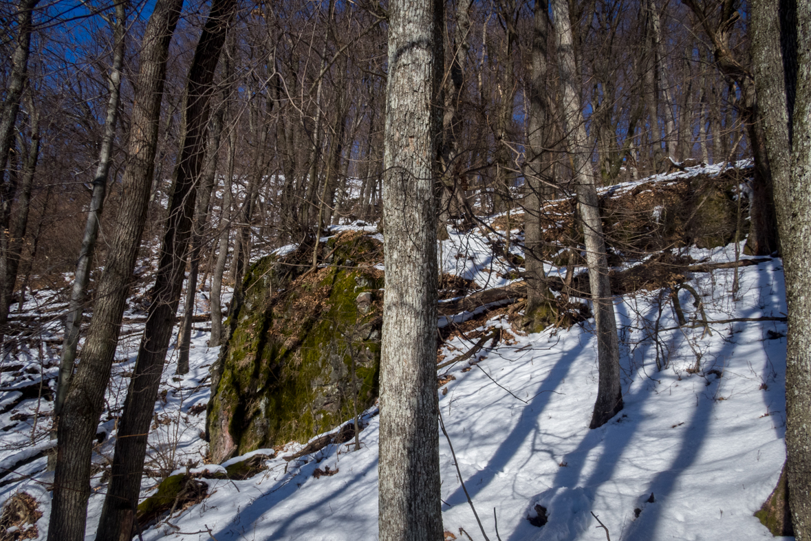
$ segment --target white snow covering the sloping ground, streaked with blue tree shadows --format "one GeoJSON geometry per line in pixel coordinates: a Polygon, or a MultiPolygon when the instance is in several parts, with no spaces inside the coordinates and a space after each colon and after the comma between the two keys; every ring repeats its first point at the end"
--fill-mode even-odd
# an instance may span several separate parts
{"type": "MultiPolygon", "coordinates": [[[[494,259],[478,229],[452,236],[443,253],[446,272],[475,279],[480,287],[506,283],[496,277],[507,267],[494,259]],[[460,247],[470,258],[453,258],[460,247]]],[[[714,262],[730,261],[734,253],[732,245],[689,250],[696,260],[714,262]]],[[[616,298],[624,409],[595,430],[588,428],[598,375],[593,321],[526,336],[514,334],[503,315],[483,321],[478,330],[500,327],[501,341],[495,347],[488,342],[473,359],[438,373],[446,381],[437,389],[448,432],[448,439],[440,433],[445,530],[456,539],[484,540],[463,481],[493,541],[605,539],[599,522],[614,541],[771,539],[753,513],[775,487],[785,458],[786,324],[778,321],[786,312],[782,262],[740,267],[735,295],[734,272],[689,277],[707,319],[724,321],[706,328],[677,326],[666,293],[616,298]],[[774,320],[730,321],[764,317],[774,320]],[[529,520],[537,515],[536,505],[547,509],[543,527],[529,520]]],[[[685,316],[701,319],[689,292],[682,290],[680,299],[685,316]]],[[[131,337],[122,341],[116,382],[109,389],[113,412],[122,404],[137,351],[139,334],[132,325],[124,333],[131,337]]],[[[449,339],[441,351],[444,359],[468,351],[478,340],[470,336],[474,332],[466,333],[470,339],[449,339]]],[[[195,331],[191,372],[183,377],[174,376],[170,351],[150,437],[147,467],[155,478],[144,477],[144,496],[157,486],[159,475],[204,463],[201,406],[208,401],[208,368],[218,352],[206,346],[207,340],[207,331],[195,331]]],[[[19,391],[11,388],[22,385],[24,377],[29,385],[55,375],[54,367],[40,368],[52,364],[55,355],[46,343],[42,354],[24,349],[19,361],[6,361],[24,368],[2,372],[6,392],[0,394],[0,411],[15,400],[19,391]]],[[[0,428],[11,427],[0,432],[0,466],[32,458],[48,445],[42,434],[49,407],[27,398],[0,414],[0,428]],[[39,436],[32,438],[37,405],[39,436]]],[[[359,450],[350,441],[285,460],[307,442],[293,443],[251,479],[204,479],[209,496],[146,530],[144,541],[377,539],[378,413],[372,408],[363,415],[359,450]],[[316,478],[316,469],[325,466],[337,473],[316,478]]],[[[94,455],[100,465],[111,458],[114,424],[103,416],[100,432],[108,437],[94,455]]],[[[40,502],[40,539],[49,519],[51,478],[44,466],[45,458],[37,458],[0,477],[0,502],[20,490],[40,502]]],[[[104,499],[101,471],[92,482],[86,539],[94,538],[104,499]]]]}

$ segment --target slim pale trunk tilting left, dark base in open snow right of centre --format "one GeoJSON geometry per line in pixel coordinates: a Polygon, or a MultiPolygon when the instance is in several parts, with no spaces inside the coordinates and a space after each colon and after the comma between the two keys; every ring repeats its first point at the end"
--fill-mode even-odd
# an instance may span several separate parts
{"type": "Polygon", "coordinates": [[[581,215],[586,241],[586,262],[589,266],[591,299],[597,323],[599,386],[590,428],[598,428],[622,409],[620,351],[616,337],[611,284],[608,282],[608,263],[597,186],[591,170],[590,147],[583,121],[574,61],[572,30],[568,24],[569,5],[566,0],[552,0],[551,4],[555,16],[558,69],[563,91],[564,133],[577,185],[577,208],[581,215]]]}

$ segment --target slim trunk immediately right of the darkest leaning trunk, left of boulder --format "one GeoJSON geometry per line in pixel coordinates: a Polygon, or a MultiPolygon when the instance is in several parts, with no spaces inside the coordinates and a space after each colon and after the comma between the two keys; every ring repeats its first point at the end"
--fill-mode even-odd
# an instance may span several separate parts
{"type": "Polygon", "coordinates": [[[220,150],[223,109],[217,109],[212,119],[211,134],[208,138],[208,164],[200,178],[200,194],[195,205],[195,223],[191,230],[191,253],[189,254],[189,278],[186,281],[186,303],[183,320],[178,330],[178,374],[189,373],[189,350],[191,348],[191,319],[195,314],[197,275],[200,273],[200,249],[203,244],[203,230],[208,221],[208,207],[217,176],[217,156],[220,150]]]}

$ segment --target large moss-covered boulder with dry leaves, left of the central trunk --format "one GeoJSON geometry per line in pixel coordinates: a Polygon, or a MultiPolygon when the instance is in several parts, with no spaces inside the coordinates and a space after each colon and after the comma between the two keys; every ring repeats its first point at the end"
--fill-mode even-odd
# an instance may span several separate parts
{"type": "Polygon", "coordinates": [[[216,462],[307,441],[377,397],[382,246],[348,232],[324,256],[329,266],[294,279],[281,278],[296,265],[289,259],[263,258],[247,272],[208,409],[216,462]]]}

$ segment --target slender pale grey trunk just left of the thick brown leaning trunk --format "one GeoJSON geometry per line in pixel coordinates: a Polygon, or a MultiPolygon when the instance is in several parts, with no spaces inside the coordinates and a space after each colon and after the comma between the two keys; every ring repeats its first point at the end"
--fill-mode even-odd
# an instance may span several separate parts
{"type": "Polygon", "coordinates": [[[99,163],[96,175],[93,177],[92,197],[87,223],[84,226],[84,238],[79,249],[79,259],[76,262],[75,279],[71,289],[71,302],[67,308],[65,320],[65,340],[62,343],[62,360],[59,362],[59,380],[54,402],[54,415],[62,412],[62,404],[70,387],[73,375],[73,364],[76,360],[76,347],[79,345],[79,330],[82,326],[82,310],[87,304],[87,289],[92,270],[93,253],[96,251],[101,212],[104,207],[107,193],[107,178],[112,163],[113,141],[115,138],[115,125],[118,121],[118,102],[121,96],[121,68],[124,62],[124,45],[127,36],[127,13],[124,2],[115,6],[115,22],[113,23],[113,65],[110,66],[107,85],[109,98],[107,100],[107,116],[105,118],[104,135],[101,137],[99,149],[99,163]]]}

